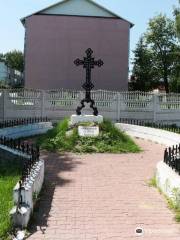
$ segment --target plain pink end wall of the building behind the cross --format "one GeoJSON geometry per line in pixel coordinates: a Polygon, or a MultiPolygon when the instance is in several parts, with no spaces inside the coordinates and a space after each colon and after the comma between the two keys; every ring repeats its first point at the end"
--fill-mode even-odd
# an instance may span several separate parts
{"type": "Polygon", "coordinates": [[[34,15],[26,20],[25,86],[81,89],[85,70],[74,60],[92,48],[104,66],[93,69],[95,89],[127,90],[129,28],[113,18],[34,15]]]}

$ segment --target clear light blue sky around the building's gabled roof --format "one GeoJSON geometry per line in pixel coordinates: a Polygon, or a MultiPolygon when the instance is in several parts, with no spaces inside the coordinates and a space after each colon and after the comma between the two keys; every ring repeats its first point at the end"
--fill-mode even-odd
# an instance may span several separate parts
{"type": "MultiPolygon", "coordinates": [[[[130,36],[130,58],[132,50],[146,31],[148,21],[156,14],[173,17],[173,6],[177,0],[94,0],[134,23],[130,36]]],[[[41,10],[58,0],[0,0],[0,53],[24,49],[24,27],[20,18],[41,10]]],[[[131,61],[131,60],[130,60],[131,61]]]]}

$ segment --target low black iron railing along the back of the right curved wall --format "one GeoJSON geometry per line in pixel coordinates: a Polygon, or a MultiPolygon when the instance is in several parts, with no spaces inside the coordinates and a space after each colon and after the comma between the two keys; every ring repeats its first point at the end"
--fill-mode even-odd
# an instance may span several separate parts
{"type": "Polygon", "coordinates": [[[144,126],[144,127],[152,127],[152,128],[174,132],[174,133],[180,133],[180,127],[177,126],[176,124],[164,124],[163,122],[155,123],[155,122],[150,122],[148,120],[138,120],[138,119],[128,119],[128,118],[120,118],[118,122],[144,126]]]}

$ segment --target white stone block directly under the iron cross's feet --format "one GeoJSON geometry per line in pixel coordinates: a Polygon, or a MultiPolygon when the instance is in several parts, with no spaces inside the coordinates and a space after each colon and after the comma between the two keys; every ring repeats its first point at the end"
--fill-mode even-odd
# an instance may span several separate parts
{"type": "Polygon", "coordinates": [[[72,115],[71,116],[71,125],[75,125],[78,123],[84,123],[84,122],[94,122],[94,123],[102,123],[103,122],[103,116],[98,115],[72,115]]]}

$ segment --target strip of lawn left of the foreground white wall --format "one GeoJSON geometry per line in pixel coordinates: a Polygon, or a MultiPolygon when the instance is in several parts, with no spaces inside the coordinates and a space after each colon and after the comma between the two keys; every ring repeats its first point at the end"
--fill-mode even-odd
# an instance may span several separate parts
{"type": "Polygon", "coordinates": [[[12,230],[9,211],[13,207],[12,190],[20,177],[21,160],[0,154],[0,239],[7,240],[12,230]]]}

